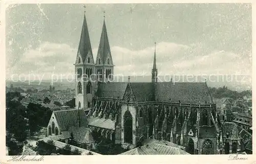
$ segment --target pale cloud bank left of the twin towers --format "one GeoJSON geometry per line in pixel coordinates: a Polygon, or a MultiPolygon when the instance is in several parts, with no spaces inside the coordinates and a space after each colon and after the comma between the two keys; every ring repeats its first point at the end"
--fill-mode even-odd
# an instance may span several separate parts
{"type": "Polygon", "coordinates": [[[7,69],[7,77],[36,74],[49,79],[53,74],[73,74],[75,58],[76,50],[70,45],[44,42],[38,48],[26,51],[14,66],[7,69]]]}

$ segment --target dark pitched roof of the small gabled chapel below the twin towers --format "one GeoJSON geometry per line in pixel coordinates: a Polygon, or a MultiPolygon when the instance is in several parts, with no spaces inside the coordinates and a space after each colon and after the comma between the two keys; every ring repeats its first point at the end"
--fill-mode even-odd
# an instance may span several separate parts
{"type": "MultiPolygon", "coordinates": [[[[80,124],[81,126],[87,126],[87,118],[86,113],[83,110],[79,110],[80,112],[80,124]]],[[[60,131],[67,131],[71,126],[77,126],[78,120],[78,110],[71,109],[71,110],[58,110],[53,111],[55,115],[55,119],[58,123],[60,131]]]]}

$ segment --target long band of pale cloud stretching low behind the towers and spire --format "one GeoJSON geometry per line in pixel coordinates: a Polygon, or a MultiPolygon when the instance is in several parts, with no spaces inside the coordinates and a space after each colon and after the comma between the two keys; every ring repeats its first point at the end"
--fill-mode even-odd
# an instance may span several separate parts
{"type": "MultiPolygon", "coordinates": [[[[112,46],[114,73],[123,76],[151,76],[154,46],[143,50],[129,50],[112,46]]],[[[52,74],[74,75],[77,50],[68,44],[41,43],[38,48],[28,50],[20,60],[7,70],[11,74],[40,74],[44,78],[52,74]]],[[[94,59],[97,49],[93,49],[94,59]]],[[[251,56],[218,50],[210,52],[202,43],[182,45],[160,42],[156,45],[159,75],[235,75],[251,74],[251,56]]],[[[8,75],[7,75],[8,76],[8,75]]]]}

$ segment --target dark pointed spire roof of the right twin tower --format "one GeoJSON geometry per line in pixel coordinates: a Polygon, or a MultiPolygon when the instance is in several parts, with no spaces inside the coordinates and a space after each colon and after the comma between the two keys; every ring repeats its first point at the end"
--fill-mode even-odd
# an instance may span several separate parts
{"type": "Polygon", "coordinates": [[[108,38],[108,33],[106,32],[106,25],[105,25],[105,19],[103,21],[103,27],[102,27],[102,32],[100,36],[100,41],[99,41],[99,49],[98,49],[98,54],[97,54],[97,59],[96,59],[96,65],[99,63],[98,62],[98,56],[101,59],[101,64],[105,64],[105,60],[110,55],[110,65],[113,65],[112,63],[112,56],[111,56],[111,51],[110,51],[110,44],[109,44],[109,38],[108,38]]]}

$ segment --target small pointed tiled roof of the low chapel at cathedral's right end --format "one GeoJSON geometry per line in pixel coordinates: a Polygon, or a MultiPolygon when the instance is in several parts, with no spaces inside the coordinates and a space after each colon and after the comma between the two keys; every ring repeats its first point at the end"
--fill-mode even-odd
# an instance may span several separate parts
{"type": "Polygon", "coordinates": [[[223,123],[223,128],[222,128],[222,135],[223,138],[227,137],[228,133],[228,139],[240,139],[239,131],[238,131],[238,126],[236,123],[232,122],[224,122],[223,123]]]}

